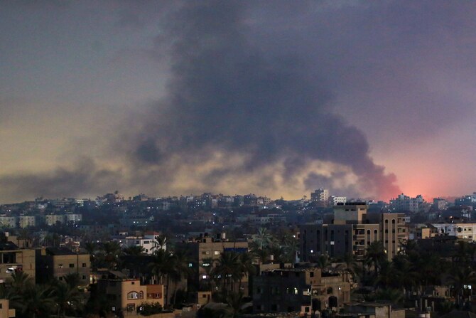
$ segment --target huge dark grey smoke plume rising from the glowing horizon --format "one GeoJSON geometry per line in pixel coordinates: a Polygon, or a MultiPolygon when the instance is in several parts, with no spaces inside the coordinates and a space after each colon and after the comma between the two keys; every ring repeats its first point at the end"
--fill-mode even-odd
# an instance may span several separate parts
{"type": "Polygon", "coordinates": [[[190,1],[163,21],[158,46],[171,74],[166,97],[133,125],[137,178],[148,176],[144,186],[159,184],[166,193],[184,167],[195,167],[185,169],[185,182],[196,189],[227,179],[255,189],[301,182],[311,190],[322,186],[318,176],[330,183],[335,175],[352,180],[342,187],[360,195],[398,193],[394,175],[369,157],[364,134],[332,113],[319,68],[254,41],[245,4],[190,1]]]}

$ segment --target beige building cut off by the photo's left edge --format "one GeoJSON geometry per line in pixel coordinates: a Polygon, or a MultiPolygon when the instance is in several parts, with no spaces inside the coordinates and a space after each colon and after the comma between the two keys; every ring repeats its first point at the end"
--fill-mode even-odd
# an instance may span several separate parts
{"type": "Polygon", "coordinates": [[[35,250],[21,249],[11,242],[0,243],[0,280],[5,281],[16,271],[35,279],[35,269],[35,250]]]}

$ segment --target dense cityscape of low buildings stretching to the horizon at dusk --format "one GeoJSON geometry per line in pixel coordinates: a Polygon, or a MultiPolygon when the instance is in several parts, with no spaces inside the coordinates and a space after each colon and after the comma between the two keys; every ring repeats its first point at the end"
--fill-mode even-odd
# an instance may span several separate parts
{"type": "MultiPolygon", "coordinates": [[[[37,285],[75,275],[80,290],[90,290],[85,303],[104,300],[101,310],[119,317],[150,310],[161,318],[210,317],[203,312],[242,295],[246,317],[403,318],[403,308],[366,302],[358,293],[380,297],[379,272],[404,265],[394,260],[420,261],[407,259],[415,246],[438,255],[431,267],[438,260],[471,262],[458,251],[476,250],[475,206],[476,193],[432,202],[399,194],[386,203],[323,188],[298,200],[210,193],[124,198],[118,191],[37,198],[0,206],[0,284],[8,290],[18,272],[37,285]]],[[[449,280],[435,282],[425,282],[426,294],[402,297],[420,314],[444,302],[472,305],[469,292],[458,300],[449,280]]],[[[14,317],[9,300],[0,304],[0,314],[14,317]]]]}

